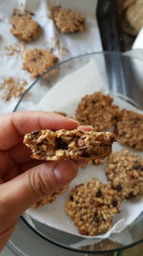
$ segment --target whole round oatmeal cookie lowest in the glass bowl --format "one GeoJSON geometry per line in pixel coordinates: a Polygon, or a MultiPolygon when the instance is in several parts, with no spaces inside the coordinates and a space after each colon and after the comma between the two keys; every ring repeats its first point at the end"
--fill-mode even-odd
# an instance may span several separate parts
{"type": "Polygon", "coordinates": [[[72,190],[66,213],[81,235],[95,236],[112,227],[112,216],[118,213],[120,201],[110,184],[92,178],[72,190]]]}

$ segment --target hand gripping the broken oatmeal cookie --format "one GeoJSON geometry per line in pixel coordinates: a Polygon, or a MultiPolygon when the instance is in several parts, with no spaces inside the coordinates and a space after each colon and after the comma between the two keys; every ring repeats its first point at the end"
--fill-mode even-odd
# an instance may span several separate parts
{"type": "Polygon", "coordinates": [[[77,175],[77,162],[31,159],[23,137],[40,128],[91,130],[56,113],[24,111],[0,117],[0,251],[25,210],[77,175]]]}

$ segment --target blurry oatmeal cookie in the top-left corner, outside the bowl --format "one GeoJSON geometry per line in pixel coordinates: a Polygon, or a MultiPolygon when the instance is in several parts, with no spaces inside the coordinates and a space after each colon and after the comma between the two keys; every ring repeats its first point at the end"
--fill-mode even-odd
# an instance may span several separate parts
{"type": "Polygon", "coordinates": [[[32,19],[32,15],[31,12],[20,12],[15,9],[11,17],[10,33],[26,43],[36,40],[42,32],[42,28],[32,19]]]}

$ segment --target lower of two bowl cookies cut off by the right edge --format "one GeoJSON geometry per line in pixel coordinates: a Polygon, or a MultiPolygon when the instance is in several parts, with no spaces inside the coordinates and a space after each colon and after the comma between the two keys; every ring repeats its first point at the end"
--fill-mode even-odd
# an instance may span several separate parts
{"type": "Polygon", "coordinates": [[[110,155],[106,175],[121,198],[143,194],[143,158],[128,150],[110,155]]]}

